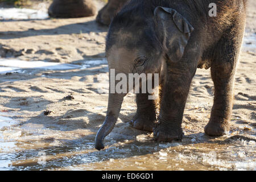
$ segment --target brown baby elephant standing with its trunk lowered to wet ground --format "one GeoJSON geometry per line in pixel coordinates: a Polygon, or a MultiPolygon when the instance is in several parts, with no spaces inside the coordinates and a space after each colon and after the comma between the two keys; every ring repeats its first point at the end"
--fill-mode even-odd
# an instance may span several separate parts
{"type": "MultiPolygon", "coordinates": [[[[150,93],[137,93],[132,127],[154,131],[157,141],[181,139],[192,78],[197,68],[210,68],[214,104],[205,133],[221,136],[229,131],[245,11],[246,0],[131,0],[123,7],[110,24],[106,40],[110,71],[127,77],[131,73],[159,75],[159,99],[148,100],[150,93]],[[211,7],[216,7],[216,14],[211,7]]],[[[117,81],[110,76],[110,91],[115,85],[117,81]]],[[[122,86],[131,87],[128,82],[122,86]]],[[[124,96],[125,92],[109,92],[105,122],[96,136],[97,150],[104,148],[124,96]]]]}

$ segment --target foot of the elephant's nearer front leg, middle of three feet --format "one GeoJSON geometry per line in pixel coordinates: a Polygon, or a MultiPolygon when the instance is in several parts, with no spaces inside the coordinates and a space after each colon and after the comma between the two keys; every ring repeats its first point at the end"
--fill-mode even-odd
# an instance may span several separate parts
{"type": "Polygon", "coordinates": [[[172,142],[174,140],[181,140],[183,137],[183,131],[180,128],[169,129],[162,125],[158,125],[154,129],[154,138],[157,142],[172,142]]]}

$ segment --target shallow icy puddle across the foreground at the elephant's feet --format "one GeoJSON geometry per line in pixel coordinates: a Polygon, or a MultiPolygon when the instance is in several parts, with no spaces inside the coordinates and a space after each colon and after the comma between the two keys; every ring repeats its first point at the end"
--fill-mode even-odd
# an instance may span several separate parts
{"type": "Polygon", "coordinates": [[[94,133],[77,137],[76,130],[20,127],[9,115],[0,115],[1,170],[256,170],[255,140],[199,134],[155,143],[152,135],[142,134],[134,140],[106,137],[106,148],[97,151],[94,133]]]}

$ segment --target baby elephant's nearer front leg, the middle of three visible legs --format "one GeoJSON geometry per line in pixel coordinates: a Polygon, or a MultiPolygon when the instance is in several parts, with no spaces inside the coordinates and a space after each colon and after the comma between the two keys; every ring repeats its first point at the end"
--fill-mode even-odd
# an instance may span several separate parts
{"type": "Polygon", "coordinates": [[[181,123],[193,75],[195,71],[185,68],[172,68],[167,74],[160,98],[159,122],[154,129],[157,141],[171,142],[182,138],[181,123]]]}

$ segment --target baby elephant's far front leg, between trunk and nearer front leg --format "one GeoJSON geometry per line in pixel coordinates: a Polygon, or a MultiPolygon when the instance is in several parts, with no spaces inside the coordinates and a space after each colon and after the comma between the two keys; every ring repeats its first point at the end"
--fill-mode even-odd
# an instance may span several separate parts
{"type": "Polygon", "coordinates": [[[138,93],[136,97],[137,113],[130,126],[138,130],[153,131],[158,117],[158,99],[148,100],[147,93],[138,93]]]}

